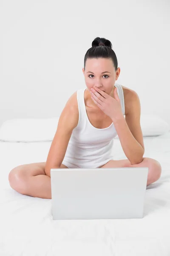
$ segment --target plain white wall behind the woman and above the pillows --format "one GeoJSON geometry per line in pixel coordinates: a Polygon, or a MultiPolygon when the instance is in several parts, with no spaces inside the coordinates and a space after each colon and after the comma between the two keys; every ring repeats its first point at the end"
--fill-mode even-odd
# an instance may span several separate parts
{"type": "Polygon", "coordinates": [[[141,114],[170,124],[169,0],[0,0],[0,125],[60,116],[85,88],[84,57],[94,38],[111,41],[141,114]]]}

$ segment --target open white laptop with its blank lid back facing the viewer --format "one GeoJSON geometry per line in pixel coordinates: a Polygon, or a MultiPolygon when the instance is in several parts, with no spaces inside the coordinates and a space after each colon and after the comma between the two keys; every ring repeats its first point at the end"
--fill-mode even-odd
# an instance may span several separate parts
{"type": "Polygon", "coordinates": [[[148,167],[51,169],[53,220],[143,218],[148,167]]]}

